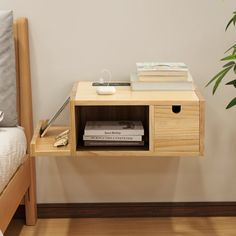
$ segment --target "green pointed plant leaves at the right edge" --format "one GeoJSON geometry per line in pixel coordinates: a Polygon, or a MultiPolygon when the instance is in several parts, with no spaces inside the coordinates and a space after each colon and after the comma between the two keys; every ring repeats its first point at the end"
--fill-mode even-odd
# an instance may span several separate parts
{"type": "MultiPolygon", "coordinates": [[[[227,31],[227,29],[231,25],[234,25],[234,26],[236,25],[236,11],[233,13],[233,17],[228,22],[228,24],[225,28],[225,31],[227,31]]],[[[222,70],[218,74],[216,74],[206,85],[206,86],[208,86],[210,84],[214,84],[213,89],[212,89],[213,95],[215,94],[215,92],[216,92],[217,88],[219,87],[219,85],[221,84],[222,80],[226,77],[226,75],[230,71],[233,71],[235,78],[233,80],[227,82],[226,85],[234,86],[236,89],[236,43],[232,47],[230,47],[225,53],[227,54],[227,56],[221,59],[221,61],[225,62],[225,64],[222,67],[222,70]]],[[[229,109],[235,105],[236,105],[236,97],[233,98],[229,102],[226,109],[229,109]]]]}

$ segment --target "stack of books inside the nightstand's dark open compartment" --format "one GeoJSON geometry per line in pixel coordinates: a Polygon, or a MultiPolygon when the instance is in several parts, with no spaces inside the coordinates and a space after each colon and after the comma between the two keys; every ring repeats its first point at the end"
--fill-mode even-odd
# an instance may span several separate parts
{"type": "Polygon", "coordinates": [[[87,121],[85,146],[144,146],[141,121],[87,121]]]}

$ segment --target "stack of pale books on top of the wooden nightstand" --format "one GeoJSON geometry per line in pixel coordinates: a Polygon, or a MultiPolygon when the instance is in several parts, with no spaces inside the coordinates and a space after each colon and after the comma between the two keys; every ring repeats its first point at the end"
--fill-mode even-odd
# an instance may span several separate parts
{"type": "Polygon", "coordinates": [[[132,90],[194,90],[193,79],[184,63],[136,63],[131,74],[132,90]]]}

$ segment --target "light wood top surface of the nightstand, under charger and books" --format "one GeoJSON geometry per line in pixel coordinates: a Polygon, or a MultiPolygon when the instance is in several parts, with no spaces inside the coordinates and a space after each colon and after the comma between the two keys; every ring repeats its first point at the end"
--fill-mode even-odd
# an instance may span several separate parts
{"type": "Polygon", "coordinates": [[[198,102],[196,91],[132,91],[129,86],[117,86],[114,95],[98,95],[91,81],[80,81],[74,86],[75,105],[103,104],[171,104],[198,102]]]}

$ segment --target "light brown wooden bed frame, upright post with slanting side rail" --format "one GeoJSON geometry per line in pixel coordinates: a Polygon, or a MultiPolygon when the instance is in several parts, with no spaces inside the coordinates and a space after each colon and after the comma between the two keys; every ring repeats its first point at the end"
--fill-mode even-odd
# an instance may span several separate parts
{"type": "Polygon", "coordinates": [[[29,63],[28,21],[19,18],[14,22],[17,74],[17,109],[19,124],[27,138],[26,161],[18,168],[7,187],[0,193],[0,230],[4,232],[16,209],[25,204],[26,224],[35,225],[37,220],[35,190],[35,160],[29,155],[33,135],[32,95],[29,63]]]}

